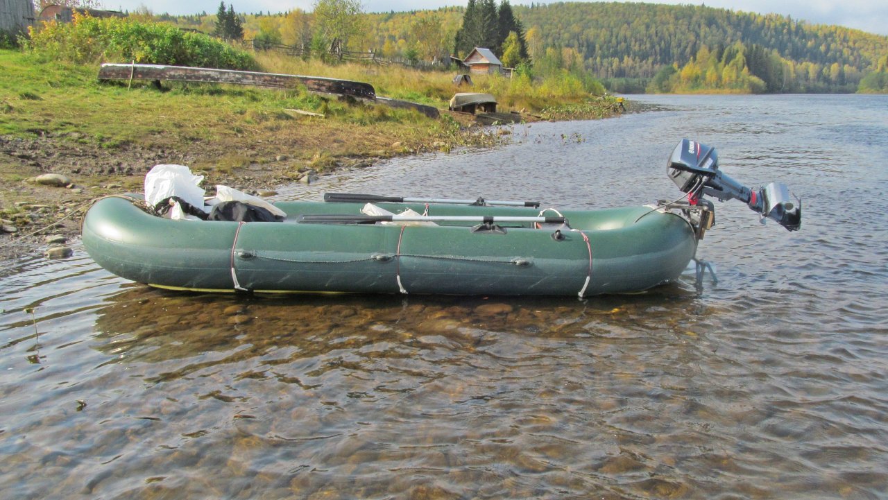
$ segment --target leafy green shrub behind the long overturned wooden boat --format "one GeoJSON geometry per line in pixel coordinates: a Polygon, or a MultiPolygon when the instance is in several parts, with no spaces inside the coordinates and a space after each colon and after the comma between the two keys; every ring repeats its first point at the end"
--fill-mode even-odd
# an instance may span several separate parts
{"type": "Polygon", "coordinates": [[[75,63],[131,61],[143,64],[256,70],[253,57],[210,38],[166,24],[75,13],[71,23],[49,21],[29,28],[28,49],[75,63]]]}

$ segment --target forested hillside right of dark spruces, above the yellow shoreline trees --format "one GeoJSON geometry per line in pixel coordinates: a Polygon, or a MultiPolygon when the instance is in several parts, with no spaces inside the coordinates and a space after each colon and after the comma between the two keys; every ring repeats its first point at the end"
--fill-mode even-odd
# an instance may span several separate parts
{"type": "Polygon", "coordinates": [[[574,47],[598,75],[653,76],[663,65],[686,64],[702,46],[711,51],[740,42],[821,67],[859,71],[888,52],[888,37],[850,28],[810,25],[777,14],[732,12],[695,5],[548,4],[515,6],[540,43],[574,47]]]}

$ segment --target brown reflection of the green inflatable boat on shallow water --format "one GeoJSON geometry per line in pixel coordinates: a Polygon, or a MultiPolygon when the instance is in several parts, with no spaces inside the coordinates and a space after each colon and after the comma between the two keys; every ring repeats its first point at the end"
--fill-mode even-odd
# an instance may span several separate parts
{"type": "MultiPolygon", "coordinates": [[[[278,353],[290,361],[361,351],[369,345],[480,349],[516,338],[621,338],[674,328],[684,307],[659,307],[664,298],[690,304],[693,290],[666,286],[654,293],[571,298],[480,298],[381,295],[220,296],[127,287],[96,311],[93,348],[115,361],[155,363],[195,358],[163,377],[183,377],[207,365],[278,353]],[[159,313],[161,312],[161,313],[159,313]],[[222,353],[204,359],[206,353],[222,353]],[[333,353],[333,354],[331,354],[333,353]]],[[[699,317],[698,317],[699,319],[699,317]]],[[[369,350],[370,355],[377,353],[369,350]]],[[[389,354],[403,355],[397,349],[389,354]]],[[[277,356],[272,356],[277,359],[277,356]]],[[[281,360],[270,363],[277,366],[281,360]]]]}

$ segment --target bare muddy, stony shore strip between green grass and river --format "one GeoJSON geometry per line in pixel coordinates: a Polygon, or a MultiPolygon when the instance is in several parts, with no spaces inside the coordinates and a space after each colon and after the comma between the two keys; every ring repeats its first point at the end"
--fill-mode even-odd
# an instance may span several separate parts
{"type": "MultiPolygon", "coordinates": [[[[463,127],[458,141],[447,138],[431,144],[390,138],[364,138],[360,151],[351,155],[329,155],[320,145],[310,157],[285,139],[267,135],[250,145],[199,141],[185,147],[156,147],[126,144],[106,148],[83,141],[77,132],[38,132],[32,138],[0,136],[0,259],[36,251],[63,257],[52,250],[80,234],[80,221],[92,201],[107,194],[143,191],[145,174],[156,164],[188,165],[204,176],[208,194],[216,184],[258,194],[292,182],[312,182],[341,168],[368,168],[381,159],[428,150],[448,150],[461,144],[479,145],[502,140],[501,132],[482,128],[473,118],[452,114],[463,127]],[[468,138],[468,139],[466,139],[468,138]],[[239,157],[240,164],[224,168],[202,165],[212,159],[239,157]],[[50,251],[52,250],[52,252],[50,251]]],[[[331,144],[345,142],[329,138],[331,144]]]]}

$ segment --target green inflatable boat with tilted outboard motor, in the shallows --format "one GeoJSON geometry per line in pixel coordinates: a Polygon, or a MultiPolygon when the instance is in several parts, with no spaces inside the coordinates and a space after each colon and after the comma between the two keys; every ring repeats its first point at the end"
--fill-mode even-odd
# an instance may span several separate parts
{"type": "Polygon", "coordinates": [[[275,203],[283,222],[244,223],[159,218],[138,197],[114,196],[87,212],[83,245],[111,273],[167,289],[587,297],[676,280],[712,222],[703,194],[741,199],[790,230],[800,224],[786,187],[741,187],[710,147],[685,139],[669,171],[692,202],[540,210],[328,194],[275,203]],[[361,213],[367,202],[394,215],[361,213]]]}

